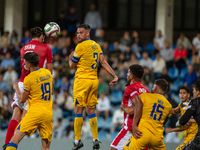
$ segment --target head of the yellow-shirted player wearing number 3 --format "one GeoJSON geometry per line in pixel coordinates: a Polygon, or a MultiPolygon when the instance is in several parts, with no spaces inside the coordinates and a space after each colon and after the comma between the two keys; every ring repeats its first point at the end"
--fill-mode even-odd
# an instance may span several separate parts
{"type": "Polygon", "coordinates": [[[78,42],[85,41],[90,38],[90,26],[88,24],[81,24],[77,29],[77,40],[78,42]]]}

